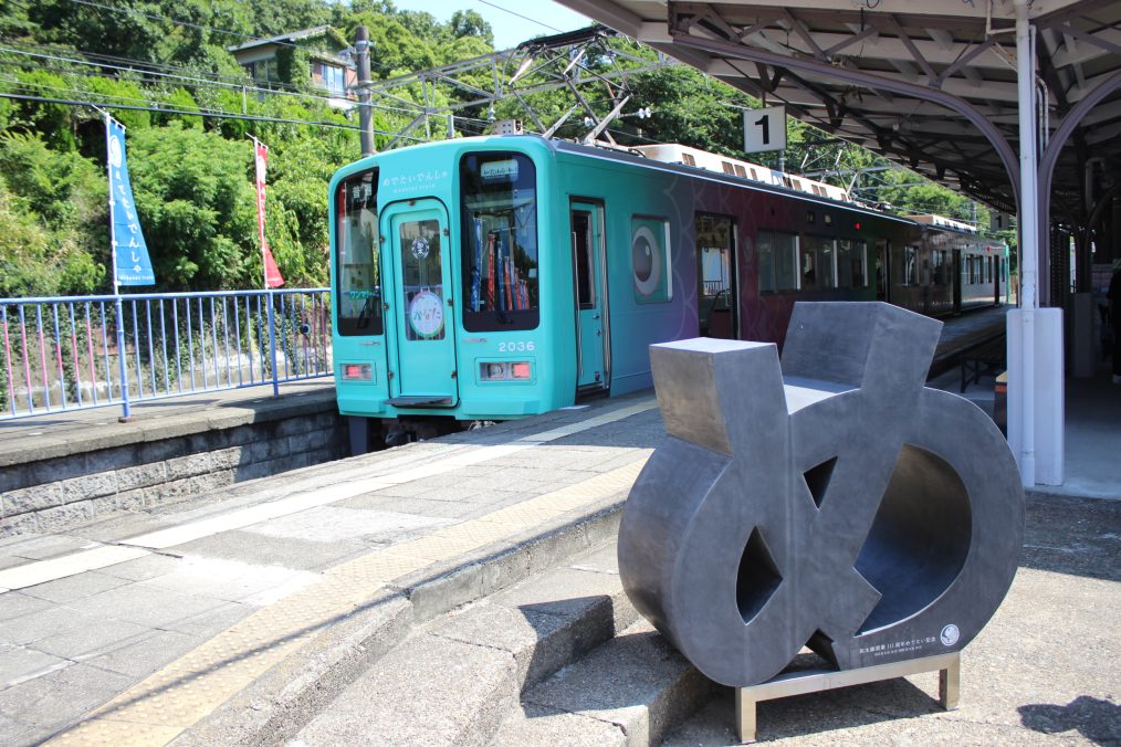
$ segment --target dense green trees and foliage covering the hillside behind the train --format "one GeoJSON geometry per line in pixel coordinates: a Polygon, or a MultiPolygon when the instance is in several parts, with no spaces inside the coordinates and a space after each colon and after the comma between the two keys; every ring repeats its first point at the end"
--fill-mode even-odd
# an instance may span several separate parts
{"type": "MultiPolygon", "coordinates": [[[[469,3],[464,1],[464,4],[469,3]]],[[[0,9],[0,297],[110,289],[105,140],[94,101],[128,128],[137,208],[159,289],[257,287],[253,158],[248,136],[270,147],[268,240],[289,286],[326,281],[326,194],[332,172],[360,152],[355,122],[311,87],[307,52],[277,56],[291,85],[262,93],[229,48],[249,39],[328,26],[337,38],[369,28],[373,75],[397,75],[493,49],[472,10],[446,22],[391,0],[11,0],[0,9]],[[334,34],[335,31],[332,31],[334,34]],[[302,73],[303,71],[303,73],[302,73]],[[160,110],[160,111],[148,111],[160,110]],[[223,112],[200,116],[192,112],[223,112]]],[[[651,55],[626,40],[632,54],[651,55]]],[[[482,83],[482,82],[481,82],[482,83]]],[[[740,112],[758,105],[692,68],[665,67],[632,83],[633,108],[655,115],[613,127],[620,142],[676,141],[730,155],[741,147],[740,112]]],[[[423,102],[419,90],[395,93],[423,102]]],[[[463,96],[471,96],[464,90],[463,96]]],[[[569,93],[536,94],[543,119],[559,118],[569,93]]],[[[437,104],[441,102],[436,102],[437,104]]],[[[522,118],[512,100],[500,118],[522,118]]],[[[467,112],[483,121],[489,112],[467,112]]],[[[379,147],[411,115],[377,110],[379,147]]],[[[580,137],[578,118],[560,130],[580,137]]],[[[434,137],[442,137],[434,128],[434,137]]],[[[867,151],[789,125],[787,168],[854,168],[867,151]],[[835,157],[834,157],[835,156],[835,157]]],[[[766,160],[766,159],[760,159],[766,160]]],[[[773,161],[773,158],[770,159],[773,161]]],[[[915,181],[906,172],[887,177],[915,181]]],[[[963,216],[965,200],[933,185],[886,188],[874,198],[963,216]],[[919,194],[921,193],[921,194],[919,194]]]]}

